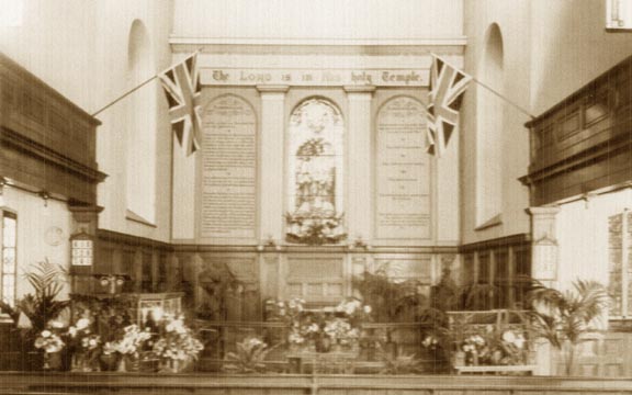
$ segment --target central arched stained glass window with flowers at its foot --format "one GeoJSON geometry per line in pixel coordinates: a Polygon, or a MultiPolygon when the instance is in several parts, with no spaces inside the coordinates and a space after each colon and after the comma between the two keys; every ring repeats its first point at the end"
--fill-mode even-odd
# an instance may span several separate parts
{"type": "Polygon", "coordinates": [[[335,244],[342,226],[345,125],[329,100],[294,109],[289,126],[287,240],[335,244]]]}

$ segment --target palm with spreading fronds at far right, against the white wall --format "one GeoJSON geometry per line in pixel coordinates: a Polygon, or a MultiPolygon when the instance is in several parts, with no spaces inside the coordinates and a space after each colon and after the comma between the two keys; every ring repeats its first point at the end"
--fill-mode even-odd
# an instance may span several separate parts
{"type": "Polygon", "coordinates": [[[577,280],[573,290],[565,292],[534,281],[528,301],[533,308],[533,335],[562,352],[566,374],[571,375],[577,346],[585,341],[585,334],[596,330],[595,323],[608,311],[608,291],[596,281],[577,280]]]}

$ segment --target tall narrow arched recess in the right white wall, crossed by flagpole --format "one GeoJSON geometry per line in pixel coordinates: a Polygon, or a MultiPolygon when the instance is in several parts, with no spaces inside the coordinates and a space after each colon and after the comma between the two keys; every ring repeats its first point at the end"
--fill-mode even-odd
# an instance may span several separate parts
{"type": "MultiPolygon", "coordinates": [[[[487,30],[481,79],[494,90],[505,90],[503,35],[497,24],[487,30]]],[[[485,89],[477,91],[476,138],[477,213],[479,227],[499,222],[503,210],[503,101],[485,89]]]]}

